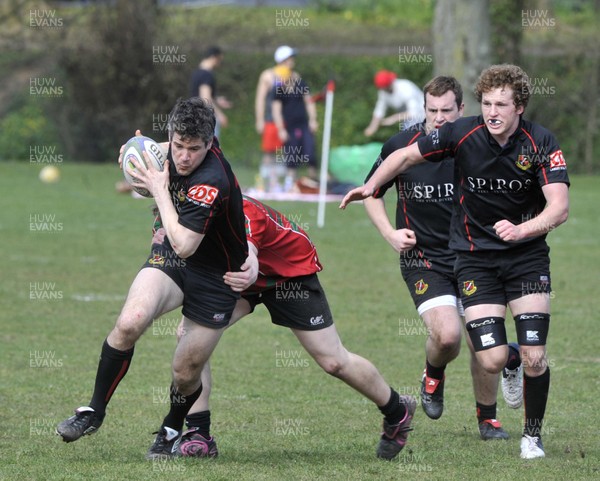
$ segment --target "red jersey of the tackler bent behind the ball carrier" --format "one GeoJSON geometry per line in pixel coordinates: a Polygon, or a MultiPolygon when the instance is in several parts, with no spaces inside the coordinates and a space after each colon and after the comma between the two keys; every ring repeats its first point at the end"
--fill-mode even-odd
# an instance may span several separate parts
{"type": "Polygon", "coordinates": [[[248,292],[323,269],[308,234],[281,212],[244,196],[244,216],[246,237],[258,249],[259,266],[258,279],[248,292]]]}

